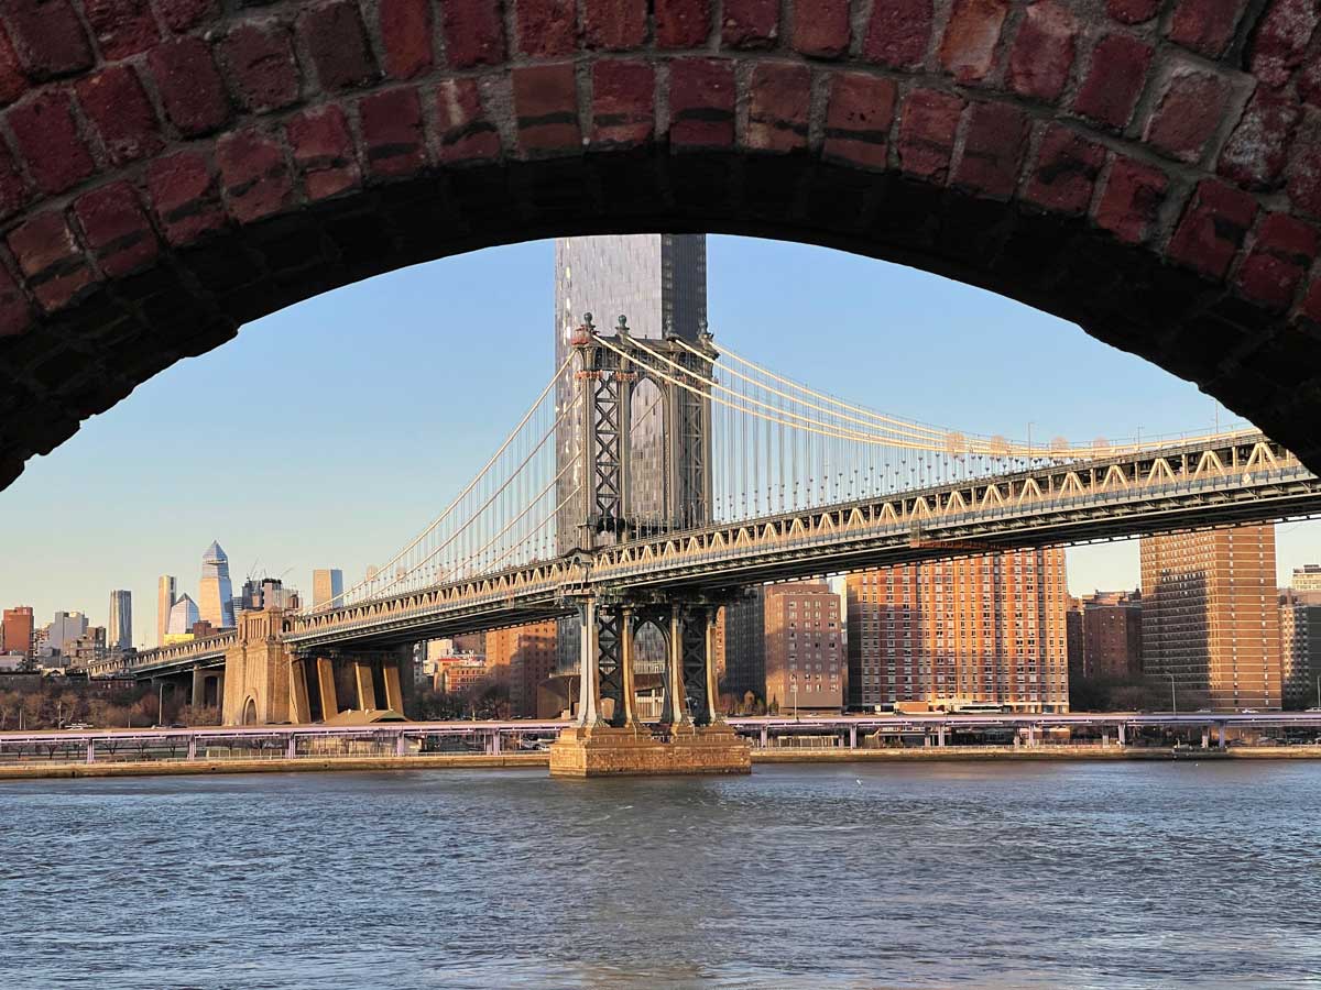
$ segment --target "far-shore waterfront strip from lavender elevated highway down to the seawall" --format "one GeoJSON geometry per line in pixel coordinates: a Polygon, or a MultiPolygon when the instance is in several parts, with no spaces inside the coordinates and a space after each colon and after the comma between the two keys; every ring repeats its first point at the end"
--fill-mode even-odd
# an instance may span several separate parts
{"type": "MultiPolygon", "coordinates": [[[[543,767],[560,721],[0,733],[0,780],[543,767]]],[[[1321,713],[732,718],[754,764],[1321,759],[1321,713]]]]}

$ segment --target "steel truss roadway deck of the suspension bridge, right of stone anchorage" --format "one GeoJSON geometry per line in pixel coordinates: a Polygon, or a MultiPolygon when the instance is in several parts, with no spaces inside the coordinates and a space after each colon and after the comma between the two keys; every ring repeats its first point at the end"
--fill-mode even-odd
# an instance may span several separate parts
{"type": "Polygon", "coordinates": [[[295,649],[376,648],[548,619],[581,595],[731,587],[931,558],[1321,513],[1321,480],[1260,433],[1050,465],[633,540],[287,619],[295,649]]]}

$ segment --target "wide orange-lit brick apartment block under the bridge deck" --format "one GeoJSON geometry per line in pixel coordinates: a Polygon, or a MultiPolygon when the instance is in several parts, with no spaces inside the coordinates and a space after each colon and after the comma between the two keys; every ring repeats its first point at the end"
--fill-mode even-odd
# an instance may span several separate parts
{"type": "Polygon", "coordinates": [[[848,576],[848,702],[1069,710],[1059,548],[848,576]]]}

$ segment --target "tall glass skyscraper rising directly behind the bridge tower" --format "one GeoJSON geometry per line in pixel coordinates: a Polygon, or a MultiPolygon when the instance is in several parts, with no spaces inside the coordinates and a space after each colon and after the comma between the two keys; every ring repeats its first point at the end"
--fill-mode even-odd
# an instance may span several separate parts
{"type": "MultiPolygon", "coordinates": [[[[555,367],[571,354],[573,330],[590,313],[602,334],[613,334],[620,315],[629,333],[657,341],[674,334],[696,342],[707,329],[707,236],[704,234],[641,234],[600,238],[560,238],[555,242],[555,367]]],[[[556,385],[559,408],[573,403],[577,379],[569,366],[556,385]]],[[[560,553],[580,541],[579,507],[569,494],[583,483],[579,455],[580,424],[565,421],[556,437],[556,462],[563,471],[556,524],[560,553]],[[565,470],[568,467],[568,470],[565,470]],[[567,502],[565,502],[567,499],[567,502]]],[[[642,383],[633,399],[629,430],[631,508],[646,520],[660,520],[664,510],[664,409],[660,393],[642,383]]],[[[577,627],[560,623],[561,669],[577,663],[577,627]],[[569,628],[572,626],[572,630],[569,628]]]]}

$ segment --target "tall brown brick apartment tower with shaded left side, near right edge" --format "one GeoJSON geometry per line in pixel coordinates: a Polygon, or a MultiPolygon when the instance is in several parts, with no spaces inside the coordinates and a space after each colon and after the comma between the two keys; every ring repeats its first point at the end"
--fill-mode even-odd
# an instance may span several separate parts
{"type": "Polygon", "coordinates": [[[1143,668],[1189,708],[1280,708],[1275,525],[1144,536],[1143,668]]]}

